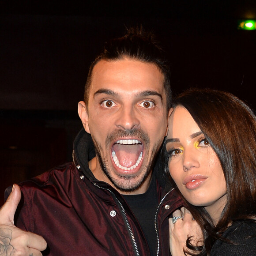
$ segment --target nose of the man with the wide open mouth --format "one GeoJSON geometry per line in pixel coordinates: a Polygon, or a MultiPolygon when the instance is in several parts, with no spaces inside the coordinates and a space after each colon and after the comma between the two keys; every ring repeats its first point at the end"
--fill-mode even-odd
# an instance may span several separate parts
{"type": "Polygon", "coordinates": [[[116,126],[118,128],[124,128],[124,130],[132,130],[138,128],[140,124],[138,113],[133,106],[123,106],[117,116],[116,126]]]}

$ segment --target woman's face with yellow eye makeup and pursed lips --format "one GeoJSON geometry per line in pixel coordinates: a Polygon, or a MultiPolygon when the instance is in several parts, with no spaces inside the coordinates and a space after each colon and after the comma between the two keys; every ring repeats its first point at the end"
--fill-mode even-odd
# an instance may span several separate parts
{"type": "Polygon", "coordinates": [[[166,150],[177,187],[195,206],[218,220],[226,204],[226,181],[217,154],[187,109],[177,106],[169,120],[166,150]]]}

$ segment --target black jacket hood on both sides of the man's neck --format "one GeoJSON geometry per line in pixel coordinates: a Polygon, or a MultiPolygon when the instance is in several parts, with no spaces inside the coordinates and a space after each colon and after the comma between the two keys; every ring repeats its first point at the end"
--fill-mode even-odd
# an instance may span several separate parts
{"type": "MultiPolygon", "coordinates": [[[[89,133],[87,133],[84,128],[82,128],[78,135],[75,137],[74,141],[74,151],[73,151],[73,160],[75,165],[80,166],[80,171],[90,180],[97,181],[91,172],[88,162],[96,156],[94,150],[94,143],[89,133]]],[[[160,152],[158,152],[155,158],[155,164],[153,172],[156,175],[157,181],[162,188],[166,191],[169,191],[172,188],[172,184],[169,181],[169,178],[164,173],[163,161],[160,158],[160,152]]]]}

